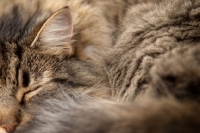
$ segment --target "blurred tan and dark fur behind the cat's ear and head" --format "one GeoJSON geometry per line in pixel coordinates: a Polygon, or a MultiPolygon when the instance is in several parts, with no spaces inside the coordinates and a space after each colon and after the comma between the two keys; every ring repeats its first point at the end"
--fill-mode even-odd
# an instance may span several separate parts
{"type": "Polygon", "coordinates": [[[74,36],[72,40],[79,59],[93,58],[94,53],[98,53],[99,50],[104,51],[111,46],[113,25],[107,22],[104,17],[105,13],[100,8],[91,5],[87,0],[58,0],[57,2],[53,0],[17,0],[14,2],[7,0],[1,4],[3,8],[0,11],[1,23],[4,24],[1,33],[5,38],[22,39],[27,32],[30,33],[36,26],[38,28],[48,17],[65,6],[70,8],[73,16],[74,36]]]}

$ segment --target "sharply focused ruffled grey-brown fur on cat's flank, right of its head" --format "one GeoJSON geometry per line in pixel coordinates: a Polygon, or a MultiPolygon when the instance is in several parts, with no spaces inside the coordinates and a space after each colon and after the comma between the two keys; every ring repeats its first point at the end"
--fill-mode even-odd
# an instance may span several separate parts
{"type": "MultiPolygon", "coordinates": [[[[154,72],[151,69],[157,65],[158,60],[162,60],[171,52],[182,53],[181,50],[176,52],[176,48],[182,49],[190,45],[186,48],[190,49],[199,44],[199,4],[199,1],[176,0],[130,7],[124,23],[120,26],[116,45],[106,55],[105,68],[110,85],[115,89],[114,97],[120,100],[134,100],[138,95],[145,93],[152,80],[159,78],[155,76],[160,75],[154,75],[159,69],[154,72]]],[[[171,58],[163,63],[170,61],[171,58]]],[[[175,80],[183,78],[178,76],[180,68],[176,67],[179,62],[177,60],[171,62],[171,65],[166,64],[172,68],[160,72],[169,73],[166,74],[165,80],[167,76],[172,76],[175,80]],[[173,70],[170,69],[178,72],[172,73],[173,70]]],[[[191,66],[188,68],[193,70],[193,64],[191,60],[191,63],[188,63],[191,66]]],[[[165,64],[159,65],[162,68],[165,64]]],[[[183,68],[183,71],[190,73],[188,68],[183,68]]],[[[164,77],[160,78],[163,80],[164,77]]]]}

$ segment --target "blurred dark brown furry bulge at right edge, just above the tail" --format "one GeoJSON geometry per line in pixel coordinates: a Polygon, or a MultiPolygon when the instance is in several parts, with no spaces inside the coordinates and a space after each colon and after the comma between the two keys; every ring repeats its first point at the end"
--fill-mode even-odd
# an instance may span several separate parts
{"type": "Polygon", "coordinates": [[[159,95],[200,100],[200,47],[192,47],[174,49],[151,69],[152,88],[159,95]]]}

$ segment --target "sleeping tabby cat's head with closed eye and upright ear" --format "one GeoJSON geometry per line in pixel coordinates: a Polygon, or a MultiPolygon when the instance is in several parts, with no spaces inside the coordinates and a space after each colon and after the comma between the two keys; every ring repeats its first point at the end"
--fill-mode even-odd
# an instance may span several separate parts
{"type": "Polygon", "coordinates": [[[70,58],[73,26],[67,7],[39,27],[17,42],[0,40],[0,130],[12,132],[28,120],[27,111],[39,97],[92,85],[97,74],[87,63],[70,58]]]}

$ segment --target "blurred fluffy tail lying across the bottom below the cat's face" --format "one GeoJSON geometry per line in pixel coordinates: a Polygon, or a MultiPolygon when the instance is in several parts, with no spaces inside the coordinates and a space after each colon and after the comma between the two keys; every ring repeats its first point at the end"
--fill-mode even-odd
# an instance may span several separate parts
{"type": "Polygon", "coordinates": [[[145,104],[78,100],[64,97],[47,101],[29,125],[17,133],[200,132],[200,107],[195,102],[180,103],[171,98],[151,99],[145,104]]]}

